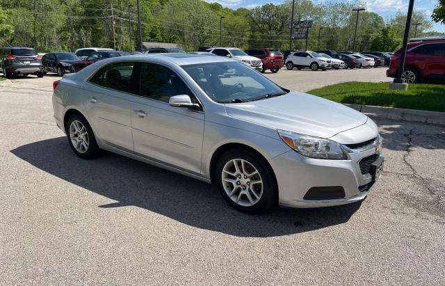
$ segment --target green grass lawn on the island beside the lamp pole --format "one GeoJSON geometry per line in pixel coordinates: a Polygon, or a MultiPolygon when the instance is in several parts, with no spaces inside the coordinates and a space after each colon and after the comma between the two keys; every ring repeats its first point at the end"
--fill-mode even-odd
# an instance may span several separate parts
{"type": "Polygon", "coordinates": [[[389,90],[388,83],[350,81],[307,93],[348,104],[445,112],[445,85],[438,84],[410,84],[407,91],[401,91],[389,90]]]}

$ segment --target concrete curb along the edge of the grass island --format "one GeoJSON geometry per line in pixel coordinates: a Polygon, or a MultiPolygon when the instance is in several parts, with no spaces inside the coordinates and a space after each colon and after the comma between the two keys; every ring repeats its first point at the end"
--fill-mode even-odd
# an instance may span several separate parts
{"type": "Polygon", "coordinates": [[[343,104],[375,118],[387,118],[410,122],[422,122],[445,125],[445,112],[424,111],[416,109],[398,109],[395,107],[343,104]]]}

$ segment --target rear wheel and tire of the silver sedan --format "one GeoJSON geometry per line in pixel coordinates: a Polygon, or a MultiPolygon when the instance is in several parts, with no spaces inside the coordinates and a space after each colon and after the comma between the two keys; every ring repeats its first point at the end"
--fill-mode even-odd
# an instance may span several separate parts
{"type": "Polygon", "coordinates": [[[99,155],[95,134],[88,121],[80,114],[74,114],[68,119],[66,126],[68,143],[73,152],[83,158],[92,159],[99,155]]]}

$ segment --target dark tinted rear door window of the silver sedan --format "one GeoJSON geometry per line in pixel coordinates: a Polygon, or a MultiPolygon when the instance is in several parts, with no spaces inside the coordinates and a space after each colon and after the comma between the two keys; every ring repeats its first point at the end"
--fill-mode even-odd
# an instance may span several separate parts
{"type": "Polygon", "coordinates": [[[111,88],[113,90],[123,91],[125,93],[136,93],[133,84],[133,69],[135,63],[111,63],[102,67],[97,72],[90,82],[103,86],[104,88],[111,88]]]}

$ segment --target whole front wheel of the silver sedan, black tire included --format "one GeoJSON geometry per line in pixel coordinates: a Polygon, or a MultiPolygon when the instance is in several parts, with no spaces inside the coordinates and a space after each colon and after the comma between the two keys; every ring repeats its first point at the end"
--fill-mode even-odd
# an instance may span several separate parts
{"type": "Polygon", "coordinates": [[[223,198],[241,212],[266,212],[277,203],[277,186],[267,161],[250,150],[233,149],[220,157],[216,184],[223,198]]]}

